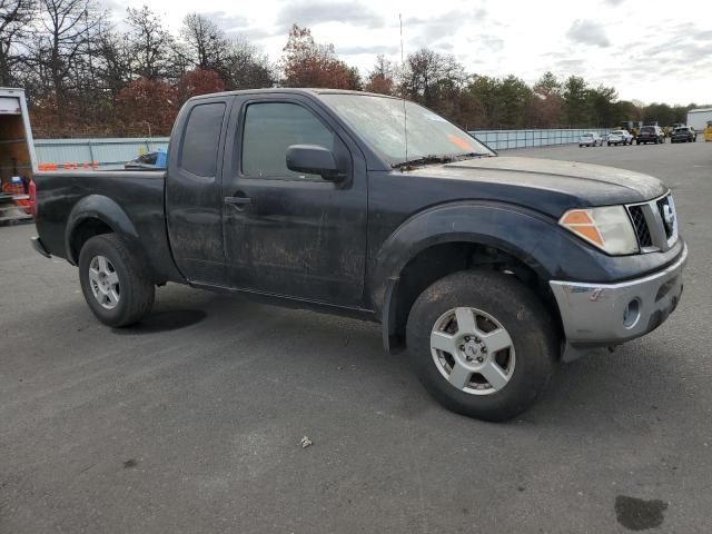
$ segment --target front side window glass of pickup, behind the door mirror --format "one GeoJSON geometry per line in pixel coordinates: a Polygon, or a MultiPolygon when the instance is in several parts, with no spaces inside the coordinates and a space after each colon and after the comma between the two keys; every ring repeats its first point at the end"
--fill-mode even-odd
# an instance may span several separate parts
{"type": "Polygon", "coordinates": [[[243,175],[250,178],[319,178],[289,170],[287,148],[317,145],[334,151],[335,142],[334,132],[297,103],[250,103],[243,132],[243,175]]]}

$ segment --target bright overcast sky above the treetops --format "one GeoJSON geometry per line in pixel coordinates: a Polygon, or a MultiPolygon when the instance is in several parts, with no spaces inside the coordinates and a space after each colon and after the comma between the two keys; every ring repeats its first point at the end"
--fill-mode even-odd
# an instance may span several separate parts
{"type": "MultiPolygon", "coordinates": [[[[145,0],[100,0],[122,18],[145,0]]],[[[172,30],[186,13],[207,14],[276,60],[293,22],[366,75],[377,53],[399,60],[427,46],[454,55],[468,72],[551,70],[614,86],[645,103],[712,103],[712,0],[152,0],[172,30]]]]}

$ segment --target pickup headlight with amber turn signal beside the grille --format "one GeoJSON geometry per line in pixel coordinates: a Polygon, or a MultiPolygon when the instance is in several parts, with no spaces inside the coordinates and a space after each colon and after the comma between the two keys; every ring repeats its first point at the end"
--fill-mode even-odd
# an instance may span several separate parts
{"type": "Polygon", "coordinates": [[[558,224],[612,256],[640,251],[633,224],[623,206],[571,209],[558,224]]]}

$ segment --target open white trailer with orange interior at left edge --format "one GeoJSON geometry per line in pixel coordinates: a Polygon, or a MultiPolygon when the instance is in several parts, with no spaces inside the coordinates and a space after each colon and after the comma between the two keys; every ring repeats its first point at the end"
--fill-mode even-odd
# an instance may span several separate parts
{"type": "Polygon", "coordinates": [[[0,87],[0,222],[28,219],[28,187],[37,170],[22,89],[0,87]]]}

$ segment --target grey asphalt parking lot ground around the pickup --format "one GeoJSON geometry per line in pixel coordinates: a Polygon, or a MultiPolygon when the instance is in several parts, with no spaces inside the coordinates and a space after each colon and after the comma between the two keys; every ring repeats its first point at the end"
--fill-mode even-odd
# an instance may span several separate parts
{"type": "Polygon", "coordinates": [[[446,412],[374,324],[169,285],[111,330],[0,228],[0,533],[710,532],[712,144],[503,155],[663,178],[691,249],[668,323],[508,424],[446,412]]]}

